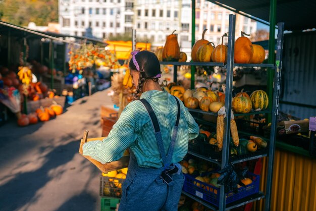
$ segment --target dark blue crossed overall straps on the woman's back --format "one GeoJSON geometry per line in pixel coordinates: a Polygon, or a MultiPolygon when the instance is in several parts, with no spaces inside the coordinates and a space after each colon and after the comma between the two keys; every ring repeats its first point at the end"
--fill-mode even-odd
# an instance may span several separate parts
{"type": "MultiPolygon", "coordinates": [[[[175,96],[174,96],[175,97],[175,96]]],[[[159,123],[157,120],[156,115],[154,114],[150,104],[148,103],[148,101],[146,99],[140,99],[140,101],[143,103],[145,109],[147,110],[154,132],[155,132],[155,137],[157,140],[157,144],[158,144],[158,149],[159,152],[162,156],[162,160],[163,160],[163,165],[165,167],[165,171],[163,171],[161,177],[164,179],[164,181],[169,184],[170,182],[172,182],[172,174],[177,173],[179,168],[176,165],[171,165],[171,161],[172,161],[172,155],[173,155],[173,151],[174,151],[174,147],[176,144],[176,139],[177,139],[177,133],[178,133],[178,126],[179,126],[179,120],[180,120],[180,103],[179,100],[177,99],[177,97],[175,97],[176,101],[177,101],[177,106],[178,106],[178,113],[177,113],[177,120],[176,120],[176,125],[173,129],[173,133],[172,133],[172,137],[171,137],[171,143],[170,143],[170,147],[168,149],[167,155],[165,153],[165,148],[164,148],[164,143],[163,143],[163,138],[162,138],[162,134],[161,134],[161,130],[159,127],[159,123]],[[165,178],[167,177],[167,178],[165,178]]]]}

